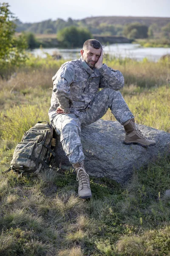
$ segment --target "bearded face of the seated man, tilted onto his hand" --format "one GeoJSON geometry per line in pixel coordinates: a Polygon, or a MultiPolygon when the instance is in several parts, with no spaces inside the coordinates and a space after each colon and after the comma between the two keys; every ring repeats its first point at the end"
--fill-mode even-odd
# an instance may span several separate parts
{"type": "Polygon", "coordinates": [[[81,50],[80,52],[88,66],[93,68],[100,57],[101,49],[89,46],[88,49],[81,50]]]}

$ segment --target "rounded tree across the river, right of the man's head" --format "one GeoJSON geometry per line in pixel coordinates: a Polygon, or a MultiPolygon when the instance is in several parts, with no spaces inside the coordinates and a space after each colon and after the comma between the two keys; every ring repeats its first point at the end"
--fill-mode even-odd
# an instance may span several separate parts
{"type": "MultiPolygon", "coordinates": [[[[146,25],[142,25],[139,22],[134,22],[134,23],[130,23],[130,24],[125,25],[125,28],[123,30],[123,34],[127,38],[130,38],[130,36],[131,36],[130,33],[131,33],[131,30],[133,30],[133,29],[137,30],[135,38],[147,38],[148,37],[148,35],[147,35],[148,27],[146,25]]],[[[134,30],[133,30],[133,34],[135,34],[134,30]]]]}

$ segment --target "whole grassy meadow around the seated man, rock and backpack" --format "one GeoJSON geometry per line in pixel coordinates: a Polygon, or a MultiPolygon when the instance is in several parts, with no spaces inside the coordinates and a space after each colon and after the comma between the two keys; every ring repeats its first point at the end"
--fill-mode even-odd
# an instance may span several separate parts
{"type": "MultiPolygon", "coordinates": [[[[158,63],[107,59],[125,75],[122,94],[137,122],[170,132],[170,69],[158,63]]],[[[27,61],[0,80],[0,171],[37,120],[48,119],[51,77],[60,61],[27,61]],[[49,64],[49,65],[48,65],[49,64]]],[[[103,117],[113,119],[110,111],[103,117]]],[[[125,185],[91,177],[93,198],[77,197],[72,170],[43,169],[34,179],[0,172],[0,255],[165,256],[170,251],[170,159],[134,170],[125,185]]]]}

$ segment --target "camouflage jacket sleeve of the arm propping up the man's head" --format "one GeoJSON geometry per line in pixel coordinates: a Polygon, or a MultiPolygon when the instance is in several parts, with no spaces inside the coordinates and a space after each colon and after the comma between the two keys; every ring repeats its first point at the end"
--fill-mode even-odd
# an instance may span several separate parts
{"type": "Polygon", "coordinates": [[[101,73],[99,88],[110,87],[114,90],[119,90],[124,86],[124,77],[119,70],[113,70],[103,64],[99,72],[101,73]]]}

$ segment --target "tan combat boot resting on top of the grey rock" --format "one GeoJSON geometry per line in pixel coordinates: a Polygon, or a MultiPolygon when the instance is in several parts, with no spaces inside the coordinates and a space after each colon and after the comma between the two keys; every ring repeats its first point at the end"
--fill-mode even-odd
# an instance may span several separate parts
{"type": "Polygon", "coordinates": [[[143,147],[150,147],[156,145],[156,142],[154,140],[147,140],[147,138],[142,134],[142,131],[139,130],[134,118],[129,119],[123,124],[123,126],[126,131],[124,140],[125,144],[137,144],[143,147]]]}

